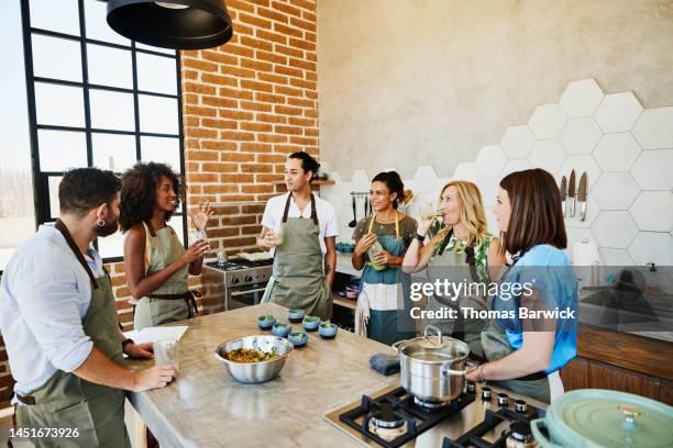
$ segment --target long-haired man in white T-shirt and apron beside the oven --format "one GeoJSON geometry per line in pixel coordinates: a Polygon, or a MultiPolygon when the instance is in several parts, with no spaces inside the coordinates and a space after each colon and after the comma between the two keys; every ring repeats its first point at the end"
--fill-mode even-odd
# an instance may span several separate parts
{"type": "Polygon", "coordinates": [[[301,309],[321,320],[332,317],[332,283],[339,234],[334,208],[311,192],[320,164],[293,153],[285,164],[287,193],[264,209],[257,245],[274,250],[274,272],[262,302],[301,309]]]}

